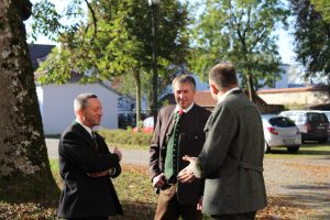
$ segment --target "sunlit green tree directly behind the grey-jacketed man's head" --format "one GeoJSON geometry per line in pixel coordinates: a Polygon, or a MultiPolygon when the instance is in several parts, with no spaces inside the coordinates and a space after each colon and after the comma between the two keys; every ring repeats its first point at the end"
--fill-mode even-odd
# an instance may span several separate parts
{"type": "Polygon", "coordinates": [[[218,61],[235,64],[253,100],[262,81],[279,78],[274,30],[286,24],[288,11],[277,0],[204,0],[193,31],[190,66],[201,76],[218,61]]]}

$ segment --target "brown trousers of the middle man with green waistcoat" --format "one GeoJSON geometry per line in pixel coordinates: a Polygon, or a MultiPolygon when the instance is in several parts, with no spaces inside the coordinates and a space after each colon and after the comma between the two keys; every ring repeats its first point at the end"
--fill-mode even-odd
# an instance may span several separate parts
{"type": "Polygon", "coordinates": [[[176,185],[160,190],[155,220],[201,220],[201,212],[196,205],[180,205],[176,198],[176,185]]]}

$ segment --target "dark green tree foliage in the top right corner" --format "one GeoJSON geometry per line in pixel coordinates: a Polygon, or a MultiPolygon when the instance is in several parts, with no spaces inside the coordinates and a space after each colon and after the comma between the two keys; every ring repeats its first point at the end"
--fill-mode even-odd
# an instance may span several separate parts
{"type": "Polygon", "coordinates": [[[310,1],[290,1],[295,15],[295,52],[306,68],[305,77],[326,77],[330,85],[330,23],[310,1]]]}

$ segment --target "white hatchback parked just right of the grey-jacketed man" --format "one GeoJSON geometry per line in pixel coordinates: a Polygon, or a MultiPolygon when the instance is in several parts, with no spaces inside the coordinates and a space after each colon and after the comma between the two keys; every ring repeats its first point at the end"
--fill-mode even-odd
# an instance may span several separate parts
{"type": "Polygon", "coordinates": [[[295,122],[286,117],[262,116],[265,152],[272,147],[286,147],[288,152],[296,153],[301,145],[301,133],[295,122]]]}

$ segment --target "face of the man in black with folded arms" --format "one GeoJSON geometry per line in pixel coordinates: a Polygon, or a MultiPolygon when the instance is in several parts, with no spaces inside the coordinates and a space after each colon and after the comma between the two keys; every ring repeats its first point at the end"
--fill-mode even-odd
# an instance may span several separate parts
{"type": "Polygon", "coordinates": [[[81,110],[82,123],[89,128],[99,125],[103,116],[102,105],[97,98],[87,100],[86,109],[81,110]]]}

